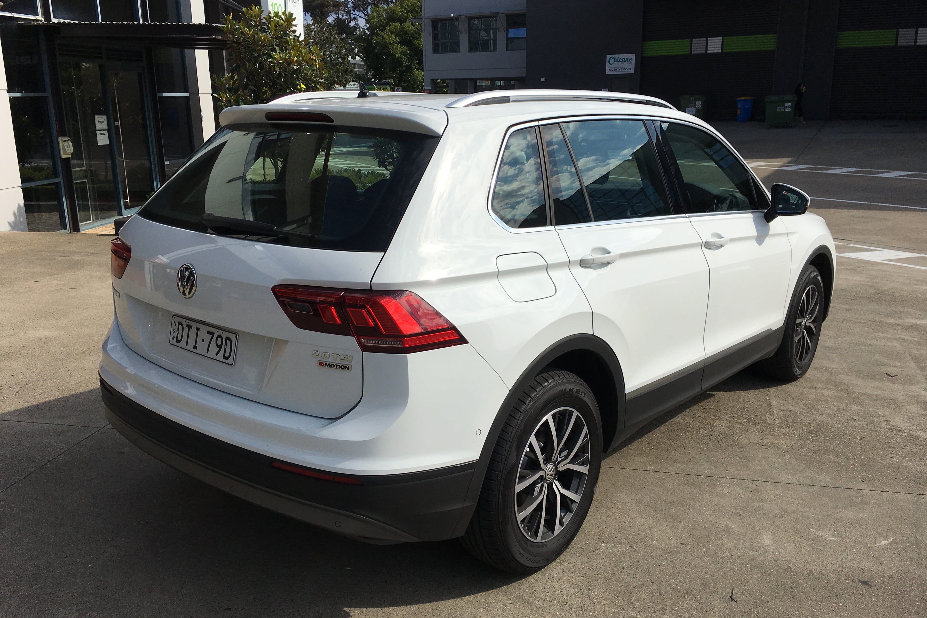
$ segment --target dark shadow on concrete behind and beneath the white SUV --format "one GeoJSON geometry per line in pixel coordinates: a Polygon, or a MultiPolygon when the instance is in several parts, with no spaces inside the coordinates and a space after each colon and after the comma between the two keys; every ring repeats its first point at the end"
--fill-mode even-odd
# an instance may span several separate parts
{"type": "MultiPolygon", "coordinates": [[[[734,376],[713,390],[768,388],[734,376]]],[[[631,435],[627,447],[705,399],[631,435]]],[[[102,426],[91,389],[0,416],[102,426]]],[[[5,426],[18,423],[0,423],[5,426]]],[[[228,495],[103,427],[0,494],[0,561],[11,612],[349,616],[351,609],[463,599],[521,578],[457,541],[367,545],[228,495]],[[100,590],[107,590],[101,595],[100,590]]],[[[11,614],[12,615],[12,614],[11,614]]]]}

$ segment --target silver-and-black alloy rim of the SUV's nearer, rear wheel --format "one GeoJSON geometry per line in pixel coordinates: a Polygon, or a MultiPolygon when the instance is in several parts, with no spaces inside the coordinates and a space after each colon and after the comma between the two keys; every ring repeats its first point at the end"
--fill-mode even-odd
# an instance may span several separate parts
{"type": "Polygon", "coordinates": [[[522,451],[515,478],[515,519],[535,543],[563,531],[589,478],[589,429],[573,408],[548,412],[522,451]]]}

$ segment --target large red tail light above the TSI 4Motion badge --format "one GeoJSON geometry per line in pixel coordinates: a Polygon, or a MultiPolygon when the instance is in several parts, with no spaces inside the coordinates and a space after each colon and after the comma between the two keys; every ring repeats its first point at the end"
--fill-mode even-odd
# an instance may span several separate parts
{"type": "Polygon", "coordinates": [[[274,285],[273,296],[297,328],[353,334],[365,352],[409,354],[466,343],[451,322],[412,292],[274,285]]]}

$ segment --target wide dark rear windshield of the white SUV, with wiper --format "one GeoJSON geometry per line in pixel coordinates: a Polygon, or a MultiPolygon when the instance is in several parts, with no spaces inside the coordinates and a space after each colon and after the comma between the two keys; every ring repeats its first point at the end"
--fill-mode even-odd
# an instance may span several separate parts
{"type": "Polygon", "coordinates": [[[262,236],[229,226],[226,235],[386,251],[438,144],[408,132],[269,129],[217,133],[138,214],[208,232],[200,218],[211,213],[296,233],[262,236]]]}

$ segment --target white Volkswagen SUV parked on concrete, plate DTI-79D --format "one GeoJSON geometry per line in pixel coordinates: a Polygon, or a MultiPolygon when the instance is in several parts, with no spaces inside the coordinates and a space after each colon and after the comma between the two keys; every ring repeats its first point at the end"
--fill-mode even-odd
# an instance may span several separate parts
{"type": "Polygon", "coordinates": [[[220,120],[113,241],[100,384],[122,435],[236,496],[530,573],[643,423],[814,358],[827,226],[663,101],[316,93],[220,120]]]}

